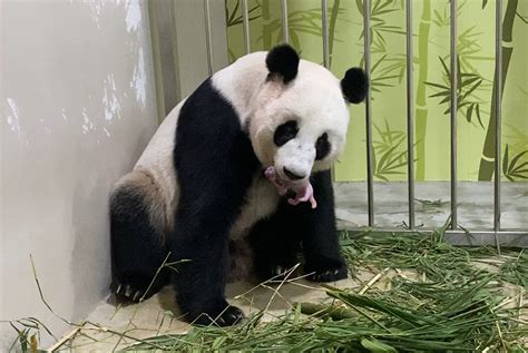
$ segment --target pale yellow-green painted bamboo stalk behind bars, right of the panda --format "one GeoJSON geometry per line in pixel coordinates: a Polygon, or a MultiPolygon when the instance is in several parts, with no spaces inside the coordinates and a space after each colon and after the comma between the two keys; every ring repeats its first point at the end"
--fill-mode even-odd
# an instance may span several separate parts
{"type": "Polygon", "coordinates": [[[415,179],[426,178],[426,129],[427,129],[427,86],[428,80],[428,56],[429,56],[429,30],[431,28],[431,0],[423,0],[422,16],[418,27],[418,87],[415,100],[415,138],[417,138],[417,171],[415,179]]]}

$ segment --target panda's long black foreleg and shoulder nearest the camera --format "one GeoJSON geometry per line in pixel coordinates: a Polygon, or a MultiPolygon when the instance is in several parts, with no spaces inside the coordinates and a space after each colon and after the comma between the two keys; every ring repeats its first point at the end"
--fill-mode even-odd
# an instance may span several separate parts
{"type": "Polygon", "coordinates": [[[182,107],[174,161],[180,196],[170,249],[174,261],[189,259],[177,266],[178,304],[192,322],[219,316],[217,324],[234,324],[242,312],[224,312],[228,233],[260,164],[235,110],[211,80],[182,107]]]}

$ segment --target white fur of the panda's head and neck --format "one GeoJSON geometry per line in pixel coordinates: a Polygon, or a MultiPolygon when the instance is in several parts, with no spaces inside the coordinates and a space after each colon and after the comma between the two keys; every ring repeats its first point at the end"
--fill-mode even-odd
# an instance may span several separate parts
{"type": "Polygon", "coordinates": [[[266,81],[266,55],[261,51],[238,59],[213,76],[213,85],[235,107],[264,167],[275,166],[280,174],[287,167],[306,176],[330,168],[343,150],[349,125],[339,79],[324,67],[301,60],[297,77],[289,85],[280,78],[266,81]],[[297,120],[300,131],[277,148],[273,134],[287,120],[297,120]],[[331,151],[315,160],[315,141],[324,133],[331,151]]]}

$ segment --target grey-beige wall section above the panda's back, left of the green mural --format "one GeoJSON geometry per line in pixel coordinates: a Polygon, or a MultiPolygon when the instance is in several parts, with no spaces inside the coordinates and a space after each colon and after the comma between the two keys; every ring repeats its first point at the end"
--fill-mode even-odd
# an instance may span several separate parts
{"type": "MultiPolygon", "coordinates": [[[[227,66],[225,1],[208,0],[212,69],[227,66]]],[[[209,76],[204,0],[149,2],[158,108],[164,118],[209,76]]]]}

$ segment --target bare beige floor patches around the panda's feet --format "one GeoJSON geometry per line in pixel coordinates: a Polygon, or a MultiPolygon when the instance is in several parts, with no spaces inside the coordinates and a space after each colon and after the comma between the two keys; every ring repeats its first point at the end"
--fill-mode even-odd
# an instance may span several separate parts
{"type": "MultiPolygon", "coordinates": [[[[343,280],[332,285],[340,288],[359,288],[377,274],[369,271],[359,274],[360,280],[343,280]]],[[[246,282],[227,285],[227,301],[244,311],[246,315],[266,310],[263,321],[271,321],[292,308],[295,302],[321,302],[327,300],[324,290],[302,278],[284,285],[258,286],[246,282]]],[[[117,307],[113,297],[101,301],[89,315],[82,329],[71,331],[58,352],[113,352],[160,334],[178,334],[189,325],[178,320],[178,308],[172,286],[140,304],[117,307]],[[124,337],[126,334],[128,337],[124,337]]]]}

